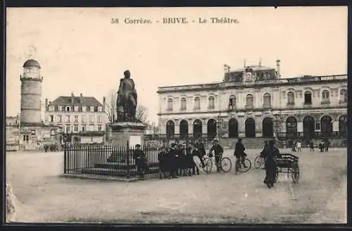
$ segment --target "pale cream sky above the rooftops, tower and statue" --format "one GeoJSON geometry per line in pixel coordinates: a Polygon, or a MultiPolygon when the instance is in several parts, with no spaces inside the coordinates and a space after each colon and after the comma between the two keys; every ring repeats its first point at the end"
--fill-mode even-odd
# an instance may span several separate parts
{"type": "MultiPolygon", "coordinates": [[[[7,8],[6,115],[20,112],[20,75],[42,66],[42,102],[103,96],[130,70],[138,104],[157,122],[158,87],[221,81],[224,64],[275,68],[282,77],[347,73],[347,7],[7,8]],[[185,17],[188,24],[163,24],[185,17]],[[203,23],[199,18],[239,23],[203,23]],[[119,23],[111,23],[118,18],[119,23]],[[125,24],[125,18],[152,24],[125,24]],[[159,23],[156,23],[159,20],[159,23]],[[195,20],[195,23],[191,23],[195,20]]],[[[114,99],[115,100],[115,99],[114,99]]]]}

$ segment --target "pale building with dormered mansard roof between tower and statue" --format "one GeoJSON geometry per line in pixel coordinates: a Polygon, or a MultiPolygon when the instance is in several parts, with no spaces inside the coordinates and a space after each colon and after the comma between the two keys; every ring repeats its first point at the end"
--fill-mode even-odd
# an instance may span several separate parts
{"type": "Polygon", "coordinates": [[[101,143],[105,141],[107,116],[103,104],[91,96],[59,96],[45,100],[45,123],[63,127],[62,142],[101,143]]]}

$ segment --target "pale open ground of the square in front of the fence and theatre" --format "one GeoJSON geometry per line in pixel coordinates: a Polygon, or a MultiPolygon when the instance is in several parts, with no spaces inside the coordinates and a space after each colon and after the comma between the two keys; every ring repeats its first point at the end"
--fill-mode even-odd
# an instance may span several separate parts
{"type": "MultiPolygon", "coordinates": [[[[252,162],[258,151],[247,151],[252,162]]],[[[63,178],[63,153],[10,152],[7,174],[22,222],[346,223],[346,154],[303,149],[298,185],[282,173],[273,189],[253,168],[144,182],[63,178]]]]}

